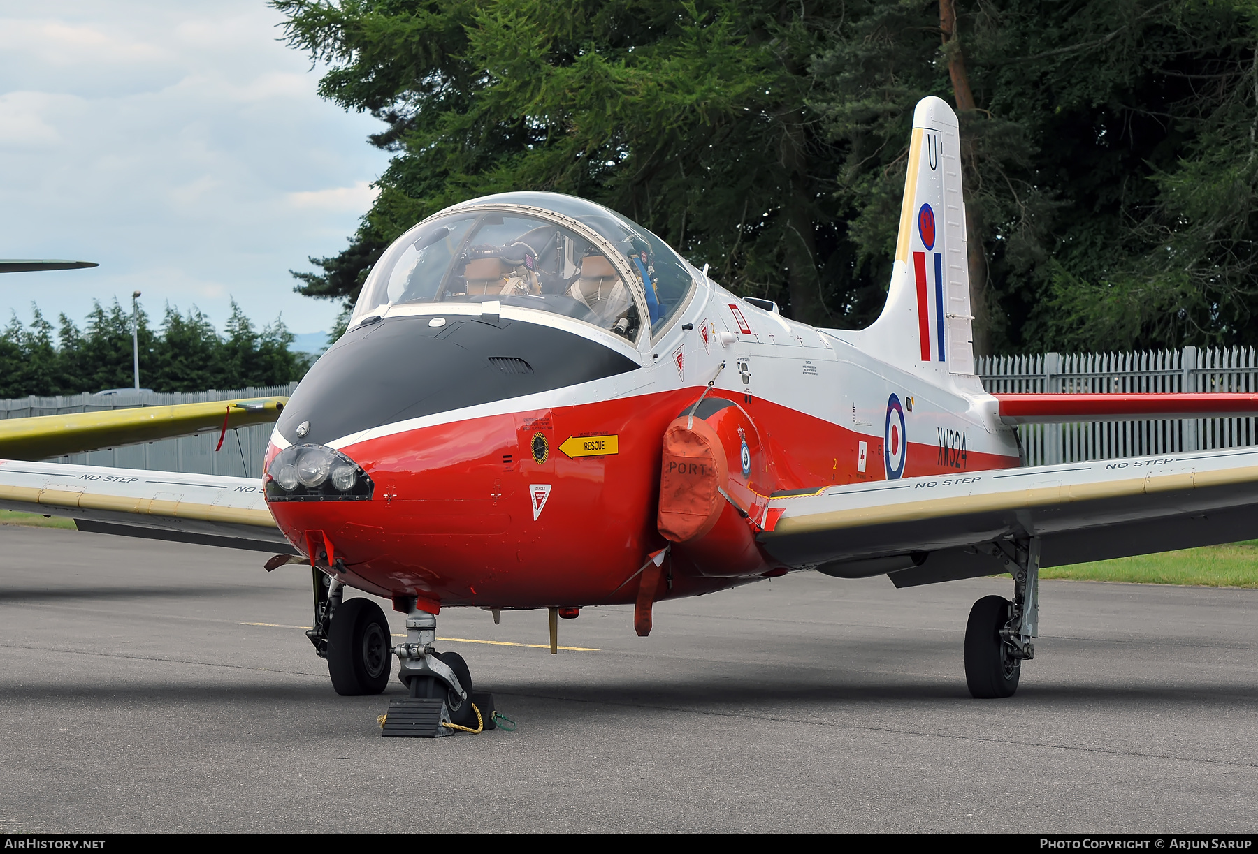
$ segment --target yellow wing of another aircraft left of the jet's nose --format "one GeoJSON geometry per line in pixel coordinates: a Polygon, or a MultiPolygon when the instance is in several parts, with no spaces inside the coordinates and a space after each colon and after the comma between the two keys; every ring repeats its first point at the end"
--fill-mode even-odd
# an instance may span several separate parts
{"type": "Polygon", "coordinates": [[[0,458],[48,459],[101,448],[270,424],[288,397],[215,400],[0,420],[0,458]]]}

